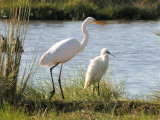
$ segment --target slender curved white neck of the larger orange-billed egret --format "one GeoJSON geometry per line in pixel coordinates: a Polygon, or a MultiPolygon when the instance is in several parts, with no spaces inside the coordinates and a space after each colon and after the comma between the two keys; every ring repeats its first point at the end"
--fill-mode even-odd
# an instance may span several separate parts
{"type": "Polygon", "coordinates": [[[88,42],[88,38],[89,38],[89,35],[88,35],[88,32],[87,32],[87,30],[86,30],[86,24],[85,24],[85,22],[82,24],[82,33],[84,34],[84,39],[83,39],[83,41],[81,42],[81,50],[80,51],[82,51],[84,48],[85,48],[85,46],[87,45],[87,42],[88,42]]]}

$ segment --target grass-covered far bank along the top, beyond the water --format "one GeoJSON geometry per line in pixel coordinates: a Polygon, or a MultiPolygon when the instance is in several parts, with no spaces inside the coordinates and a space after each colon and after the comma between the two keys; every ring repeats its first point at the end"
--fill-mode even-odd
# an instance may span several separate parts
{"type": "MultiPolygon", "coordinates": [[[[10,3],[3,6],[8,17],[10,3]]],[[[2,6],[1,6],[2,7],[2,6]]],[[[31,20],[96,19],[156,20],[160,17],[158,0],[36,0],[32,2],[31,20]]]]}

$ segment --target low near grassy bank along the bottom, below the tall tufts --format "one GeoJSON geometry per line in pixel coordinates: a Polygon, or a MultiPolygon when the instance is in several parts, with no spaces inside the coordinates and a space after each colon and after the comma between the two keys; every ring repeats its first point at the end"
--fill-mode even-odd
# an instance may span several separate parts
{"type": "MultiPolygon", "coordinates": [[[[72,88],[70,89],[72,90],[72,88]]],[[[159,120],[160,118],[160,104],[155,101],[113,100],[110,98],[108,100],[96,100],[95,98],[98,98],[98,96],[95,96],[95,98],[92,96],[92,100],[86,101],[79,99],[62,100],[61,98],[56,98],[57,96],[61,97],[61,94],[57,92],[52,101],[44,98],[28,97],[14,105],[4,104],[4,107],[0,108],[0,119],[159,120]]]]}

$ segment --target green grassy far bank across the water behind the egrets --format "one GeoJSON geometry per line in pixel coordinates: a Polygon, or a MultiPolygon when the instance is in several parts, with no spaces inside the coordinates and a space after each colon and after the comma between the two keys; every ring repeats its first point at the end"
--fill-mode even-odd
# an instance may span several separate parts
{"type": "Polygon", "coordinates": [[[71,3],[40,3],[33,5],[30,19],[49,20],[84,20],[88,16],[96,19],[129,19],[129,20],[155,20],[160,16],[160,3],[135,4],[109,4],[103,8],[89,2],[71,3]],[[47,14],[46,14],[47,13],[47,14]]]}

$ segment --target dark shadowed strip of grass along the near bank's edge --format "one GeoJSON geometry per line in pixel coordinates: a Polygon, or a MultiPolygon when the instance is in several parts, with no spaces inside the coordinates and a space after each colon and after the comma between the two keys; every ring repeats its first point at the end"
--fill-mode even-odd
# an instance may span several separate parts
{"type": "Polygon", "coordinates": [[[46,100],[24,100],[18,106],[24,107],[30,115],[36,112],[46,113],[48,111],[63,112],[94,111],[101,113],[112,113],[114,115],[132,114],[143,112],[149,114],[159,114],[160,104],[144,101],[46,101],[46,100]]]}

